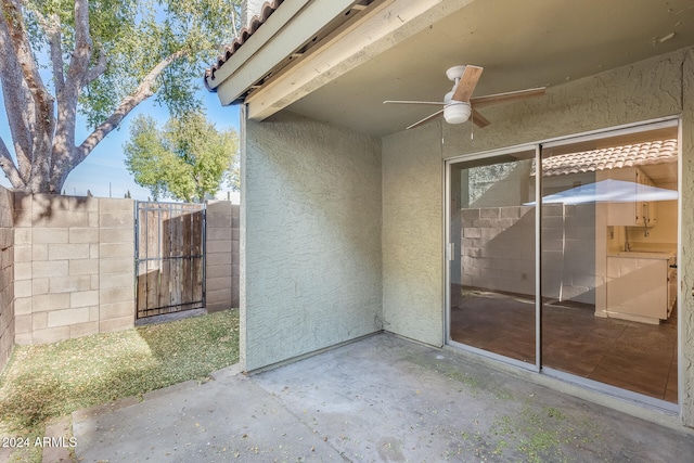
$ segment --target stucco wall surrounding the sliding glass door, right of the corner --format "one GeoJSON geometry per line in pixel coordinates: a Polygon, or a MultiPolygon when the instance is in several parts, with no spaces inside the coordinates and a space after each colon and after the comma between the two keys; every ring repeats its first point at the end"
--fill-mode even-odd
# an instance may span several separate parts
{"type": "Polygon", "coordinates": [[[681,390],[684,423],[694,426],[694,281],[691,276],[694,273],[694,50],[681,50],[550,88],[541,99],[485,107],[484,114],[492,125],[485,129],[474,128],[474,140],[471,139],[470,124],[451,126],[440,121],[384,140],[383,253],[386,269],[386,320],[403,318],[404,320],[397,322],[396,332],[404,335],[409,333],[411,337],[425,342],[429,342],[429,338],[419,335],[417,332],[423,329],[415,330],[415,325],[425,321],[432,325],[426,330],[428,333],[435,332],[437,327],[442,330],[440,299],[432,297],[441,292],[441,279],[429,278],[440,275],[441,272],[442,246],[437,245],[434,236],[436,233],[425,234],[424,240],[414,236],[407,239],[404,232],[400,233],[400,240],[386,239],[387,231],[404,229],[413,223],[417,224],[417,229],[412,234],[417,234],[420,221],[426,222],[421,227],[428,226],[434,230],[440,228],[444,209],[441,158],[681,115],[681,390]],[[425,143],[424,140],[428,142],[425,143]],[[414,169],[419,170],[416,181],[412,181],[411,172],[414,169]],[[396,190],[403,191],[406,188],[415,191],[397,194],[396,190]],[[416,200],[417,197],[422,200],[416,200]],[[424,200],[429,197],[430,200],[424,200]],[[385,213],[387,208],[407,213],[385,213]],[[406,268],[408,278],[414,281],[416,274],[425,275],[416,292],[404,285],[396,287],[386,275],[387,269],[393,268],[393,265],[387,263],[388,259],[408,252],[413,253],[417,260],[416,265],[411,263],[406,268]],[[424,288],[424,285],[427,287],[424,288]],[[397,297],[390,293],[398,292],[410,296],[409,300],[404,297],[400,297],[400,300],[408,300],[407,306],[417,307],[419,310],[409,310],[404,304],[400,304],[401,307],[390,304],[388,300],[397,297]]]}

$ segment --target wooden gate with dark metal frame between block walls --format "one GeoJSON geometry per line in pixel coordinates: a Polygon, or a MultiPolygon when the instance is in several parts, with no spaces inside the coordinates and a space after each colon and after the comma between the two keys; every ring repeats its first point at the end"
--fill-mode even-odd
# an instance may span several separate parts
{"type": "Polygon", "coordinates": [[[205,307],[205,205],[137,202],[137,318],[205,307]]]}

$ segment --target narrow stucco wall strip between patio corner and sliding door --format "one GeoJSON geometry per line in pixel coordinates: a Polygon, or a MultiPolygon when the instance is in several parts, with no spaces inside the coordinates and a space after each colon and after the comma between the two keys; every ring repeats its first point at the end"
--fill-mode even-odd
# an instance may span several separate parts
{"type": "Polygon", "coordinates": [[[442,191],[436,125],[383,140],[384,329],[444,344],[442,191]]]}

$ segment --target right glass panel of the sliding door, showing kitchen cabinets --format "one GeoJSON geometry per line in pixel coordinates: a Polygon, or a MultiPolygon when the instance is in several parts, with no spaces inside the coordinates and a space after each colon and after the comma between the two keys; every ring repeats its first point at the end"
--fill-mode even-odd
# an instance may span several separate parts
{"type": "Polygon", "coordinates": [[[678,402],[677,126],[542,150],[542,365],[678,402]]]}

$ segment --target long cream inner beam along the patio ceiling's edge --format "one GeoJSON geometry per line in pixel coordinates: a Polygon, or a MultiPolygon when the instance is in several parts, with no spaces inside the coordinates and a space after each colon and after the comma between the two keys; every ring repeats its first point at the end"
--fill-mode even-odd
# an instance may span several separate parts
{"type": "Polygon", "coordinates": [[[359,13],[362,17],[335,30],[324,43],[248,95],[248,117],[262,120],[271,116],[473,1],[384,0],[372,4],[359,13]]]}

